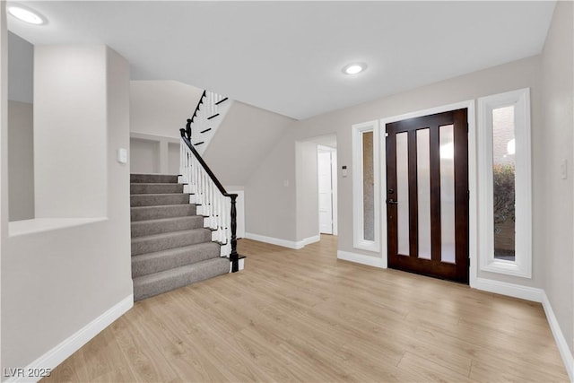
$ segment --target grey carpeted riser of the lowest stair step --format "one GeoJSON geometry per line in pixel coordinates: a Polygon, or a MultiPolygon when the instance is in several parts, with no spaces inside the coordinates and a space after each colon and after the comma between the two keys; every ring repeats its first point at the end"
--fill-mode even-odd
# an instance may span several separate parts
{"type": "MultiPolygon", "coordinates": [[[[156,278],[152,281],[139,281],[135,279],[134,300],[143,300],[161,294],[162,292],[170,292],[187,284],[204,281],[205,279],[227,274],[228,272],[229,260],[221,258],[190,265],[184,274],[165,275],[162,276],[161,279],[156,278]]],[[[145,278],[145,276],[143,278],[145,278]]]]}

